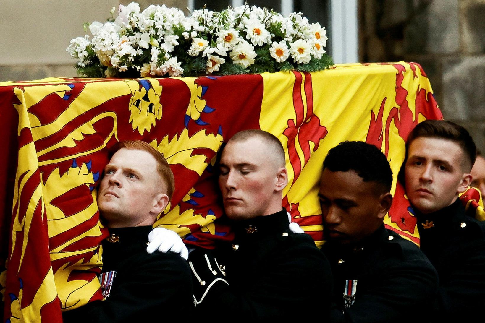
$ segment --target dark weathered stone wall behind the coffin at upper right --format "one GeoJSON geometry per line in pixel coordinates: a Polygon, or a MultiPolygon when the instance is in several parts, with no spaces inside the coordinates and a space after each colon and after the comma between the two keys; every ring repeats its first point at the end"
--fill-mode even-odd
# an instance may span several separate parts
{"type": "Polygon", "coordinates": [[[485,0],[359,0],[359,60],[420,63],[485,153],[485,0]]]}

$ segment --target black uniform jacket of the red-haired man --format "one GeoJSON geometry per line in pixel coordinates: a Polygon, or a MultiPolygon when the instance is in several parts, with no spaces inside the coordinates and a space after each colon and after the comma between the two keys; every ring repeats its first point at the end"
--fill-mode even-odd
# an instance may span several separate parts
{"type": "MultiPolygon", "coordinates": [[[[103,241],[103,273],[116,271],[109,297],[63,313],[65,322],[149,322],[166,313],[190,315],[192,278],[172,252],[146,252],[151,226],[110,229],[118,242],[103,241]]],[[[116,239],[114,239],[116,240],[116,239]]]]}

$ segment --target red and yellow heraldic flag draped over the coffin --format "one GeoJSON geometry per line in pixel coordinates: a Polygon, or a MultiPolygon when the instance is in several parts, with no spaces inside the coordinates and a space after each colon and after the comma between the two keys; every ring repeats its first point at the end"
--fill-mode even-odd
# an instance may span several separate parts
{"type": "MultiPolygon", "coordinates": [[[[442,118],[415,63],[337,65],[329,70],[164,79],[58,79],[0,83],[0,274],[4,320],[61,322],[61,311],[102,299],[97,184],[118,141],[143,140],[175,175],[171,204],[155,226],[210,248],[232,239],[216,159],[236,132],[263,129],[286,150],[283,206],[317,245],[323,242],[318,182],[323,159],[344,140],[386,154],[395,195],[386,226],[419,242],[397,174],[404,141],[425,119],[442,118]]],[[[462,195],[483,216],[476,190],[462,195]]]]}

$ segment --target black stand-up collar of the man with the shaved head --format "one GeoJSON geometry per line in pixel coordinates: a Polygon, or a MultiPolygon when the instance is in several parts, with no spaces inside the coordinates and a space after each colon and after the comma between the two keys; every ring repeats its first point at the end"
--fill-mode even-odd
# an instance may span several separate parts
{"type": "Polygon", "coordinates": [[[257,216],[252,219],[234,222],[236,236],[259,236],[261,234],[279,233],[288,231],[288,214],[285,209],[279,212],[257,216]]]}

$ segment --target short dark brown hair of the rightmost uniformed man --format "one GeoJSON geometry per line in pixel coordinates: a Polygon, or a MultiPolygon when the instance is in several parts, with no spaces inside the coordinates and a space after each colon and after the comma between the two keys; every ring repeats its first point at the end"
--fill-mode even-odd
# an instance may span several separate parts
{"type": "Polygon", "coordinates": [[[471,170],[471,167],[475,163],[475,159],[477,157],[477,147],[475,146],[473,138],[471,138],[467,129],[463,128],[462,126],[458,126],[451,121],[445,120],[425,120],[420,122],[407,137],[406,159],[409,145],[411,145],[415,139],[420,137],[451,140],[458,144],[463,153],[467,156],[470,162],[469,170],[471,170]]]}

